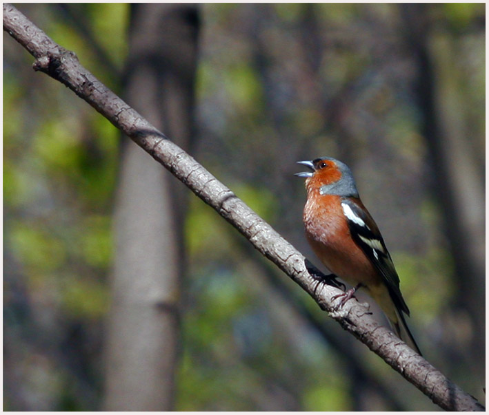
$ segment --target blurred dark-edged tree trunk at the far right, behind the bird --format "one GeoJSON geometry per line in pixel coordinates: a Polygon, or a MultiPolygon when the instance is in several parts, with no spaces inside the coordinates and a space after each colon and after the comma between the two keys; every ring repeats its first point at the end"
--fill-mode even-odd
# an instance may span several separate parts
{"type": "Polygon", "coordinates": [[[454,77],[455,52],[448,30],[430,23],[430,5],[401,6],[408,39],[419,67],[417,98],[428,144],[434,191],[441,202],[445,234],[455,261],[455,324],[452,346],[467,343],[472,368],[483,377],[484,310],[484,187],[466,138],[463,103],[454,77]],[[434,30],[433,30],[434,29],[434,30]],[[481,371],[481,372],[480,372],[481,371]]]}

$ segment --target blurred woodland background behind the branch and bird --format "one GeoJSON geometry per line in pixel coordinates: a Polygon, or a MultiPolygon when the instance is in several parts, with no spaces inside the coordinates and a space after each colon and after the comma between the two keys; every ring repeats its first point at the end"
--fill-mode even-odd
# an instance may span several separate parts
{"type": "MultiPolygon", "coordinates": [[[[319,265],[350,165],[424,357],[485,403],[483,3],[21,4],[319,265]]],[[[3,409],[438,410],[3,34],[3,409]]]]}

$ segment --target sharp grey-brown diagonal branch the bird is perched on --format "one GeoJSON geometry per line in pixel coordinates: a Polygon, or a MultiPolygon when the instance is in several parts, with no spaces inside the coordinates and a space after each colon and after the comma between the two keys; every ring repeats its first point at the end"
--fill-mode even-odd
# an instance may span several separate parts
{"type": "Polygon", "coordinates": [[[97,109],[141,148],[192,190],[219,215],[237,228],[250,243],[303,290],[341,326],[365,343],[434,403],[448,410],[483,410],[475,398],[463,392],[428,361],[380,326],[357,301],[336,310],[332,297],[341,293],[321,284],[306,270],[305,258],[270,225],[237,198],[194,158],[154,128],[121,98],[80,65],[77,56],[54,43],[11,4],[3,4],[3,30],[36,58],[34,70],[45,72],[97,109]]]}

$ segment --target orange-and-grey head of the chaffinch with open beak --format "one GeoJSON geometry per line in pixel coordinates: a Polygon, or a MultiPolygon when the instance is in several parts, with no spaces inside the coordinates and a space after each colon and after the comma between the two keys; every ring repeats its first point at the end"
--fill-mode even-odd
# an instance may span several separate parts
{"type": "Polygon", "coordinates": [[[320,157],[312,161],[300,161],[311,171],[295,173],[306,178],[308,194],[317,191],[319,195],[339,195],[343,198],[358,198],[357,186],[352,171],[343,162],[331,157],[320,157]]]}

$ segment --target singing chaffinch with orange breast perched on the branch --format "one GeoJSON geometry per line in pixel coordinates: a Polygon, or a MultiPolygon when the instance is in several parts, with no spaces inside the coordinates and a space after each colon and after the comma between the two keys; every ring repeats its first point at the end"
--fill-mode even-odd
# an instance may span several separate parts
{"type": "Polygon", "coordinates": [[[359,198],[351,170],[330,157],[297,163],[312,170],[295,174],[306,178],[303,222],[312,251],[332,273],[355,286],[340,295],[340,305],[365,288],[397,336],[421,354],[403,316],[409,309],[399,276],[377,224],[359,198]]]}

